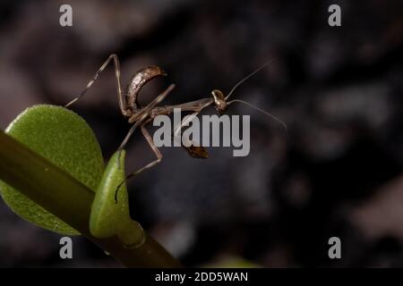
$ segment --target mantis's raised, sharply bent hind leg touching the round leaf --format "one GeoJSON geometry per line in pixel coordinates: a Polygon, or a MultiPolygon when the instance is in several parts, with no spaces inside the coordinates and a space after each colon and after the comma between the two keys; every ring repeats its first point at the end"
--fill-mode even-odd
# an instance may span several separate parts
{"type": "Polygon", "coordinates": [[[124,95],[122,93],[122,86],[120,84],[120,64],[119,64],[119,58],[117,57],[117,55],[112,54],[109,55],[109,57],[107,58],[107,60],[102,63],[101,67],[99,68],[99,70],[95,73],[94,77],[87,83],[87,86],[84,90],[81,91],[81,94],[78,97],[75,97],[72,101],[70,101],[67,105],[64,105],[64,107],[68,107],[70,105],[73,105],[73,103],[75,103],[77,100],[79,100],[81,97],[83,97],[85,95],[85,93],[88,91],[88,89],[90,89],[90,87],[92,86],[92,84],[95,82],[95,80],[98,79],[99,77],[99,73],[101,71],[104,71],[105,68],[107,67],[107,64],[110,63],[111,60],[114,60],[114,65],[115,65],[115,77],[116,77],[116,92],[117,92],[117,97],[119,100],[119,107],[120,110],[122,112],[122,114],[126,115],[127,114],[127,110],[126,110],[126,100],[124,98],[124,95]]]}

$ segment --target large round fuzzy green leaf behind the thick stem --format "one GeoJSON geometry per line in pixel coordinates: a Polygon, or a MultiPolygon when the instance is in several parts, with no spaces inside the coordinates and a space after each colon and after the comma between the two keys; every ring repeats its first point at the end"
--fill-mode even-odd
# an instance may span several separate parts
{"type": "MultiPolygon", "coordinates": [[[[97,189],[104,160],[93,131],[78,114],[60,106],[35,105],[22,112],[5,132],[88,188],[97,189]]],[[[0,192],[7,206],[30,223],[64,235],[80,234],[3,181],[0,192]]]]}

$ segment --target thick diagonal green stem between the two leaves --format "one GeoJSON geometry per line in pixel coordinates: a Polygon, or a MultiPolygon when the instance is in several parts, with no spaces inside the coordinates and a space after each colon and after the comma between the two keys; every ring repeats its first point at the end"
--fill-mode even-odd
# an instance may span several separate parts
{"type": "Polygon", "coordinates": [[[178,267],[180,263],[146,235],[139,248],[124,248],[116,237],[90,235],[90,207],[94,193],[20,142],[0,130],[0,179],[71,225],[128,267],[178,267]]]}

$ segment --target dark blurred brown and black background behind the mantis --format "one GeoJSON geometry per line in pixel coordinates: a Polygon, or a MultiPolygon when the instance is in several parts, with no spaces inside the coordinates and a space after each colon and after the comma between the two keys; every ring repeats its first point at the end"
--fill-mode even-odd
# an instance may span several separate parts
{"type": "MultiPolygon", "coordinates": [[[[274,59],[234,98],[287,132],[233,105],[251,115],[250,155],[161,148],[163,161],[130,181],[133,218],[184,265],[403,266],[401,1],[71,0],[71,28],[59,25],[61,4],[0,3],[0,128],[30,105],[65,105],[111,53],[124,85],[147,65],[166,70],[141,94],[147,103],[175,82],[163,104],[227,92],[274,59]],[[330,4],[341,27],[328,25],[330,4]],[[332,236],[341,259],[328,257],[332,236]]],[[[109,66],[73,105],[106,160],[130,128],[115,85],[109,66]]],[[[127,150],[128,172],[154,159],[140,132],[127,150]]],[[[0,204],[0,266],[120,266],[83,238],[61,260],[60,237],[0,204]]]]}

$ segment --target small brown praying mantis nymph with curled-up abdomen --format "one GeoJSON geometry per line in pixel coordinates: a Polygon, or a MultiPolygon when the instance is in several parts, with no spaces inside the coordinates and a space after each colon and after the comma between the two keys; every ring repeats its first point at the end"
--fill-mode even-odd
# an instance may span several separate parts
{"type": "MultiPolygon", "coordinates": [[[[122,150],[124,148],[124,146],[127,144],[128,140],[132,136],[134,130],[136,130],[140,126],[142,135],[149,143],[155,156],[157,156],[156,160],[150,162],[149,164],[146,164],[145,166],[141,167],[136,172],[129,174],[126,177],[127,179],[143,172],[146,169],[151,168],[152,166],[154,166],[156,164],[159,164],[159,162],[162,160],[162,154],[159,151],[159,148],[156,147],[156,145],[154,144],[153,139],[151,138],[150,133],[146,129],[145,126],[148,122],[152,121],[158,115],[171,114],[175,108],[180,108],[181,111],[185,111],[185,112],[192,112],[192,114],[185,117],[184,121],[181,122],[179,124],[179,126],[176,126],[174,128],[174,134],[173,134],[174,139],[176,138],[177,134],[180,133],[182,128],[184,126],[186,126],[189,122],[192,122],[193,118],[195,116],[197,116],[198,114],[200,114],[204,108],[206,108],[210,105],[213,105],[217,109],[219,114],[225,114],[228,106],[235,102],[243,103],[245,105],[250,105],[251,107],[260,111],[262,114],[266,114],[266,115],[270,116],[271,118],[273,118],[274,120],[280,122],[287,130],[287,125],[284,122],[280,121],[277,117],[273,116],[272,114],[269,114],[269,113],[263,111],[261,108],[259,108],[257,106],[254,106],[254,105],[252,105],[248,102],[245,102],[243,100],[240,100],[240,99],[234,99],[231,101],[227,101],[228,97],[230,97],[234,93],[236,88],[238,88],[245,80],[252,77],[256,72],[261,71],[271,61],[264,63],[257,70],[253,71],[252,73],[250,73],[249,75],[244,77],[243,80],[240,80],[239,82],[237,82],[236,85],[227,94],[227,97],[225,97],[224,94],[219,89],[214,89],[211,91],[211,97],[209,97],[209,98],[202,98],[199,100],[195,100],[195,101],[180,104],[180,105],[157,106],[157,105],[159,105],[159,103],[162,100],[164,100],[165,97],[167,97],[167,95],[172,91],[172,89],[175,88],[175,84],[171,84],[163,92],[161,92],[158,97],[153,99],[148,105],[141,106],[141,105],[139,105],[139,102],[138,102],[138,97],[139,97],[141,88],[149,80],[152,80],[158,76],[165,76],[165,75],[167,75],[167,73],[165,71],[161,70],[158,66],[150,66],[150,67],[144,68],[140,71],[137,71],[136,73],[134,73],[133,77],[131,78],[131,80],[129,81],[129,84],[127,85],[127,87],[125,89],[125,92],[123,93],[121,82],[120,82],[119,59],[118,59],[117,55],[112,54],[112,55],[109,55],[107,60],[101,65],[99,70],[95,73],[94,77],[88,82],[86,88],[84,90],[82,90],[81,94],[78,97],[75,97],[70,103],[65,105],[65,107],[72,105],[78,99],[83,97],[85,95],[85,93],[88,91],[88,89],[91,87],[91,85],[95,82],[95,80],[98,79],[99,73],[101,71],[104,71],[104,69],[107,67],[107,64],[110,63],[111,61],[113,61],[114,65],[115,65],[116,89],[117,89],[117,97],[118,97],[118,101],[119,101],[120,110],[125,117],[128,117],[129,123],[134,123],[132,128],[128,131],[127,135],[125,136],[125,138],[124,138],[122,144],[120,145],[120,147],[118,148],[118,150],[122,150]]],[[[208,152],[204,147],[198,147],[198,146],[195,146],[194,144],[190,144],[188,146],[189,147],[185,147],[185,146],[183,146],[183,147],[187,150],[187,152],[189,153],[190,156],[193,156],[196,158],[207,158],[208,157],[208,152]]]]}

